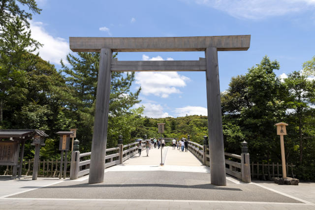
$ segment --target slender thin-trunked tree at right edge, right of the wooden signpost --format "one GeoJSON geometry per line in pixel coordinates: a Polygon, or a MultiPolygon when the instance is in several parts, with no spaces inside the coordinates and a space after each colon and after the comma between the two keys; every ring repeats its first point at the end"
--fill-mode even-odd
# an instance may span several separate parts
{"type": "MultiPolygon", "coordinates": [[[[307,76],[302,75],[298,71],[288,74],[288,78],[284,79],[287,88],[286,105],[288,109],[293,109],[292,117],[298,121],[299,133],[299,150],[300,164],[303,163],[303,133],[306,129],[304,124],[310,117],[310,106],[315,104],[315,81],[310,81],[307,76]]],[[[294,123],[295,124],[295,123],[294,123]]]]}

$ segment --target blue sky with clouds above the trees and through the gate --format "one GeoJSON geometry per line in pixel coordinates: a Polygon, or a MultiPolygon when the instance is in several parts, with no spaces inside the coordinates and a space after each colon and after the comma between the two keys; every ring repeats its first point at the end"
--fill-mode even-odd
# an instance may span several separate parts
{"type": "MultiPolygon", "coordinates": [[[[248,51],[219,52],[221,91],[264,55],[278,76],[315,56],[315,0],[37,0],[31,22],[40,56],[60,68],[69,36],[154,37],[251,34],[248,51]]],[[[119,53],[119,60],[198,60],[204,52],[119,53]]],[[[148,117],[206,115],[204,72],[136,73],[148,117]]]]}

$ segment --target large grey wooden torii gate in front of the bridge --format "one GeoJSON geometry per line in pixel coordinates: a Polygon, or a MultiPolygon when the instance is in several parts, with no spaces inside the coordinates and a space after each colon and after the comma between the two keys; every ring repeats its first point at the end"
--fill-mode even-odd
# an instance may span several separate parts
{"type": "Polygon", "coordinates": [[[218,51],[248,50],[251,35],[69,37],[73,52],[100,52],[89,183],[104,180],[111,71],[205,71],[211,183],[226,185],[218,51]],[[118,61],[112,52],[205,51],[205,59],[118,61]]]}

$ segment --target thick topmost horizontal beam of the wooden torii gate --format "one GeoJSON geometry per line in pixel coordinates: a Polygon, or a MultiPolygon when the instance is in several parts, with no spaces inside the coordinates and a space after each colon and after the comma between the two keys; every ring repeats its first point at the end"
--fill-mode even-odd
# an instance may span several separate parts
{"type": "Polygon", "coordinates": [[[187,37],[69,37],[73,52],[99,52],[109,48],[113,52],[180,52],[244,51],[250,47],[251,35],[187,36],[187,37]]]}

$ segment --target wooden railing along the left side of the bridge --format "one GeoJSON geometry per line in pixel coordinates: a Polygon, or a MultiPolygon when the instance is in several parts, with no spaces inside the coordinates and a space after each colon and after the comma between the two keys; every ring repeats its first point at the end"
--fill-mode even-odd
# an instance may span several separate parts
{"type": "MultiPolygon", "coordinates": [[[[76,180],[79,177],[90,174],[90,163],[91,163],[91,151],[80,153],[79,141],[75,140],[73,146],[73,152],[71,155],[71,166],[70,166],[70,180],[76,180]],[[89,157],[89,158],[83,158],[89,157]],[[86,159],[86,160],[82,160],[86,159]]],[[[142,143],[142,150],[145,150],[145,145],[142,143]]],[[[104,158],[105,168],[122,164],[125,160],[138,154],[138,143],[134,142],[131,144],[123,145],[118,144],[118,147],[106,149],[104,158]],[[111,153],[111,154],[108,154],[111,153]]]]}

